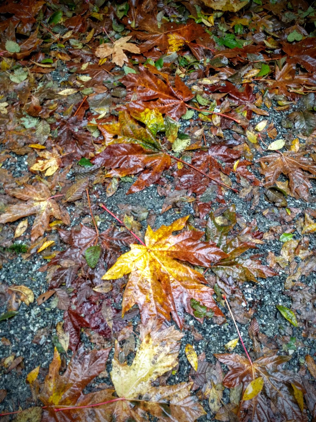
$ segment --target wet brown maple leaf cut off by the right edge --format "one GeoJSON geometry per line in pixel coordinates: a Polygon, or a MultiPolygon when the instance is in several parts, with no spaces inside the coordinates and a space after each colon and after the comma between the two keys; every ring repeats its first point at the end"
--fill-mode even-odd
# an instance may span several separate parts
{"type": "Polygon", "coordinates": [[[306,154],[306,151],[285,151],[283,153],[278,151],[258,158],[256,162],[260,162],[261,173],[265,175],[265,186],[269,187],[275,184],[280,174],[283,173],[289,178],[292,195],[308,201],[309,189],[312,187],[308,179],[316,176],[316,163],[311,157],[305,157],[306,154]]]}

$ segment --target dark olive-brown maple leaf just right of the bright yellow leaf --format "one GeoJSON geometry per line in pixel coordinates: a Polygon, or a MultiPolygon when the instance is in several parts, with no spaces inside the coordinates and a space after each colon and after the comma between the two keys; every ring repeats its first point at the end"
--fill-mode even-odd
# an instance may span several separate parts
{"type": "Polygon", "coordinates": [[[239,281],[257,282],[257,277],[266,279],[275,276],[276,273],[270,267],[262,265],[260,260],[244,259],[240,255],[257,243],[263,243],[254,237],[251,228],[246,227],[237,235],[229,233],[236,225],[235,206],[231,206],[222,216],[215,217],[211,212],[206,223],[206,239],[213,241],[219,248],[228,254],[228,257],[213,263],[212,271],[221,278],[228,278],[239,281]]]}

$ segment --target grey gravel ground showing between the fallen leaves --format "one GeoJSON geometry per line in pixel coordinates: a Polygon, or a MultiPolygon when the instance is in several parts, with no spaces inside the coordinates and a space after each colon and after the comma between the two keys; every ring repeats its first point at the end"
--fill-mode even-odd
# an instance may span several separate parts
{"type": "MultiPolygon", "coordinates": [[[[270,117],[268,119],[274,122],[275,127],[279,131],[279,138],[287,132],[287,130],[281,127],[281,119],[288,113],[289,111],[283,113],[273,113],[273,111],[270,110],[270,117]]],[[[262,116],[256,116],[252,124],[255,125],[260,120],[262,120],[262,116]]],[[[187,122],[185,122],[185,125],[187,125],[187,122]]],[[[225,132],[225,136],[230,138],[232,132],[225,132]]],[[[12,155],[15,156],[14,154],[12,155]]],[[[19,176],[22,171],[27,170],[27,164],[24,157],[15,157],[17,161],[14,163],[14,166],[12,164],[9,166],[7,161],[3,167],[11,168],[11,170],[12,167],[14,167],[14,176],[19,176]]],[[[258,172],[256,172],[256,176],[261,178],[258,172]]],[[[315,197],[315,182],[312,183],[313,192],[311,192],[311,196],[315,197]]],[[[193,214],[191,205],[185,204],[181,211],[179,211],[178,208],[171,208],[169,211],[166,211],[161,215],[160,212],[163,206],[164,197],[158,195],[156,185],[150,186],[142,192],[126,196],[125,193],[129,187],[129,183],[122,182],[120,183],[115,195],[110,198],[106,198],[102,186],[96,185],[93,189],[91,189],[91,202],[93,204],[96,204],[96,202],[103,202],[116,215],[122,215],[122,212],[118,208],[118,204],[129,204],[131,206],[142,206],[147,208],[148,211],[152,211],[152,214],[156,215],[153,225],[154,228],[158,228],[162,224],[169,225],[180,216],[193,214]],[[97,201],[94,193],[97,193],[97,201]]],[[[234,204],[236,206],[237,214],[244,217],[247,222],[256,218],[258,230],[265,233],[270,229],[270,227],[279,225],[280,223],[269,220],[262,215],[262,211],[266,208],[275,208],[271,203],[265,200],[263,192],[264,189],[260,188],[260,202],[256,207],[254,207],[254,209],[251,209],[251,202],[245,202],[244,199],[239,198],[238,195],[231,191],[226,193],[225,200],[227,205],[234,204]]],[[[295,200],[295,198],[291,197],[288,197],[287,201],[289,207],[300,208],[302,211],[305,208],[315,209],[315,203],[305,203],[303,200],[295,200]]],[[[213,203],[213,206],[215,210],[217,208],[216,203],[213,203]]],[[[75,208],[72,205],[67,209],[70,212],[72,226],[79,224],[79,222],[85,217],[89,218],[89,214],[84,215],[81,213],[80,215],[75,215],[75,208]]],[[[95,214],[98,214],[99,208],[97,206],[93,206],[93,211],[95,214]]],[[[303,214],[301,212],[297,214],[296,218],[302,215],[303,214]]],[[[109,227],[110,223],[115,222],[114,219],[105,212],[100,213],[100,216],[100,230],[104,230],[109,227]]],[[[32,217],[29,217],[29,222],[31,221],[32,217]]],[[[295,227],[295,220],[293,224],[295,227]]],[[[12,226],[16,225],[17,222],[12,224],[12,226]]],[[[143,233],[145,228],[146,227],[143,227],[143,233]]],[[[27,237],[26,242],[29,243],[29,240],[27,241],[27,237]]],[[[264,255],[262,261],[265,263],[265,256],[267,252],[271,251],[278,256],[280,254],[281,246],[282,243],[278,240],[266,241],[265,245],[259,245],[256,251],[251,250],[249,255],[253,253],[262,253],[264,255]]],[[[315,248],[315,246],[315,235],[311,235],[310,247],[315,248]]],[[[35,294],[35,298],[37,298],[41,293],[47,290],[48,284],[46,281],[46,273],[38,271],[38,269],[46,263],[47,262],[45,260],[41,259],[39,254],[32,255],[27,260],[23,260],[20,255],[11,255],[7,262],[3,262],[3,268],[0,273],[0,281],[8,284],[24,284],[32,289],[35,294]]],[[[284,334],[292,335],[298,340],[301,340],[301,329],[291,326],[289,322],[281,317],[275,307],[276,304],[282,304],[284,306],[291,305],[290,298],[287,295],[284,295],[284,281],[286,277],[287,275],[284,271],[280,271],[279,276],[265,280],[259,279],[258,284],[244,283],[242,291],[244,292],[248,303],[247,309],[249,309],[249,306],[256,303],[257,310],[254,313],[254,317],[257,318],[260,325],[260,331],[262,333],[268,335],[269,337],[284,334]]],[[[314,282],[314,276],[303,276],[302,281],[311,286],[314,282]]],[[[5,311],[6,306],[4,304],[0,308],[0,314],[5,311]]],[[[0,388],[4,388],[8,392],[6,399],[0,405],[2,406],[2,410],[16,411],[19,406],[21,406],[21,408],[26,408],[30,405],[31,394],[29,387],[25,382],[26,375],[37,365],[41,365],[41,368],[44,369],[41,370],[40,377],[43,379],[45,368],[48,368],[48,365],[53,358],[56,322],[62,321],[62,319],[63,311],[54,307],[54,300],[51,298],[41,306],[37,306],[36,301],[29,307],[27,307],[25,303],[22,303],[19,308],[18,315],[6,321],[0,322],[0,338],[7,338],[11,343],[10,346],[5,346],[3,343],[0,343],[0,360],[13,353],[15,353],[16,357],[22,356],[24,358],[24,368],[19,372],[13,369],[9,373],[6,373],[3,366],[0,368],[0,388]],[[37,343],[34,342],[35,335],[37,335],[37,343]]],[[[133,322],[136,325],[138,321],[139,315],[134,317],[133,322]]],[[[202,335],[203,339],[196,341],[192,331],[188,329],[185,330],[185,336],[182,338],[182,347],[179,353],[179,370],[176,375],[171,376],[169,379],[169,382],[171,383],[188,380],[190,364],[188,363],[184,353],[184,348],[187,343],[193,344],[198,354],[205,352],[206,360],[215,363],[213,353],[225,352],[224,344],[237,337],[233,321],[230,317],[227,318],[227,322],[225,324],[220,326],[214,324],[212,320],[207,319],[204,321],[204,324],[201,325],[190,315],[186,315],[185,324],[186,327],[194,327],[198,333],[202,335]]],[[[251,350],[252,342],[248,336],[248,325],[238,325],[241,334],[244,337],[246,347],[251,350]]],[[[84,341],[86,348],[91,349],[91,343],[85,335],[83,335],[82,340],[84,341]]],[[[316,352],[314,341],[309,338],[304,338],[303,343],[304,345],[297,346],[297,349],[292,354],[292,360],[288,364],[288,368],[291,368],[294,371],[299,370],[306,354],[313,355],[313,353],[316,352]]],[[[235,352],[240,354],[243,353],[243,349],[240,344],[236,347],[235,352]]],[[[69,361],[70,356],[71,352],[68,352],[68,356],[66,356],[67,362],[69,361]]],[[[111,362],[111,357],[112,354],[110,354],[108,362],[111,362]]],[[[107,370],[110,371],[110,363],[107,366],[107,370]]],[[[102,382],[110,382],[110,379],[102,379],[102,382]]],[[[94,385],[95,384],[92,384],[92,388],[94,385]]],[[[204,403],[204,405],[204,408],[207,411],[207,403],[204,403]]],[[[201,418],[201,421],[210,419],[212,419],[212,414],[209,412],[206,417],[201,418]]]]}

